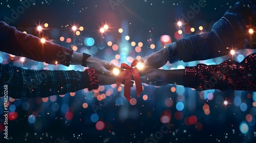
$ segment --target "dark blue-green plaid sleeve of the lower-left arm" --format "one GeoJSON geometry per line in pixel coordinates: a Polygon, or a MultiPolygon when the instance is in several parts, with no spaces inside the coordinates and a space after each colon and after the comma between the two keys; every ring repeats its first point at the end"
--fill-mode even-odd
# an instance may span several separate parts
{"type": "Polygon", "coordinates": [[[9,96],[15,99],[49,97],[90,88],[92,84],[88,73],[91,71],[88,71],[31,70],[0,64],[0,86],[8,85],[9,96]]]}

